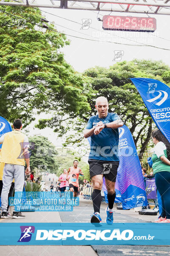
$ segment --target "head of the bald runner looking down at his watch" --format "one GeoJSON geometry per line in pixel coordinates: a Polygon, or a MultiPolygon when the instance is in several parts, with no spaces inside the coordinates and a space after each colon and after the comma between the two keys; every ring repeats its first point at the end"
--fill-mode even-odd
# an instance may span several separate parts
{"type": "Polygon", "coordinates": [[[95,108],[97,110],[99,118],[105,118],[108,115],[108,100],[103,96],[98,97],[96,99],[95,108]]]}

